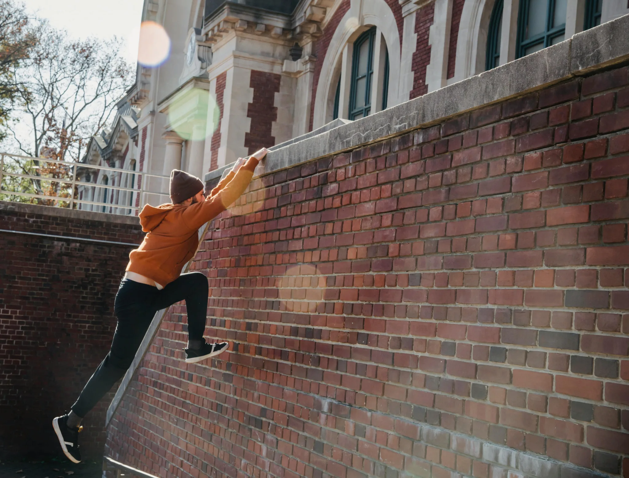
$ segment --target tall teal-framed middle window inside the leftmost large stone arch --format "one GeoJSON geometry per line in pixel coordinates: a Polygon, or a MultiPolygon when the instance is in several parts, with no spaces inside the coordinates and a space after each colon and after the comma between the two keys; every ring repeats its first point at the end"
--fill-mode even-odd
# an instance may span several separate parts
{"type": "Polygon", "coordinates": [[[357,120],[371,111],[371,83],[374,77],[374,43],[376,27],[365,31],[354,42],[349,119],[357,120]]]}

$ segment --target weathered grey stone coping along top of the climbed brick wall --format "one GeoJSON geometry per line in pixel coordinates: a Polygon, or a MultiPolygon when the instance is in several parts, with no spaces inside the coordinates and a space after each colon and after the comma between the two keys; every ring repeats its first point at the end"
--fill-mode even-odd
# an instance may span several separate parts
{"type": "MultiPolygon", "coordinates": [[[[569,40],[501,65],[493,70],[350,121],[321,134],[272,148],[256,175],[266,175],[317,158],[364,147],[390,136],[425,128],[511,97],[521,96],[571,77],[629,59],[629,15],[577,33],[569,40]]],[[[206,182],[227,167],[207,173],[206,182]]]]}

